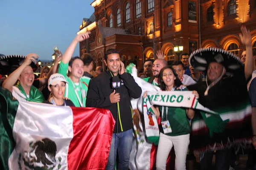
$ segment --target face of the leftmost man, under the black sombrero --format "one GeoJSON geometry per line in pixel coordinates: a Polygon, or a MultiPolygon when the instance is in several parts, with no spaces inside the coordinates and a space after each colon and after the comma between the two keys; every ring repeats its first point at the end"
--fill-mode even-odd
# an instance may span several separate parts
{"type": "Polygon", "coordinates": [[[35,75],[33,69],[29,65],[24,68],[24,70],[20,74],[20,77],[18,78],[18,80],[20,81],[20,85],[23,88],[30,88],[34,82],[34,79],[35,75]]]}

